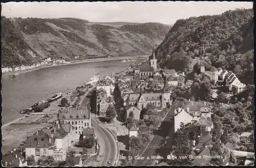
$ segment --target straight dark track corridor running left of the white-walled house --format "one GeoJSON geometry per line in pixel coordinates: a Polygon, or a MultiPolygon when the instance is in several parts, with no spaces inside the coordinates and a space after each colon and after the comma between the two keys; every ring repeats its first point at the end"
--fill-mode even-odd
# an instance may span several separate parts
{"type": "Polygon", "coordinates": [[[169,118],[173,116],[174,110],[181,106],[182,102],[174,101],[172,107],[168,110],[168,114],[164,118],[164,121],[162,122],[160,129],[157,133],[157,135],[154,136],[153,140],[151,141],[150,145],[147,147],[147,149],[144,151],[144,153],[141,155],[144,158],[150,158],[150,159],[141,159],[137,160],[137,162],[134,164],[136,166],[138,165],[151,165],[152,161],[154,159],[151,159],[152,156],[157,156],[156,149],[159,149],[165,139],[166,136],[172,137],[173,136],[173,122],[169,121],[169,118]],[[166,128],[169,130],[166,131],[166,128]]]}

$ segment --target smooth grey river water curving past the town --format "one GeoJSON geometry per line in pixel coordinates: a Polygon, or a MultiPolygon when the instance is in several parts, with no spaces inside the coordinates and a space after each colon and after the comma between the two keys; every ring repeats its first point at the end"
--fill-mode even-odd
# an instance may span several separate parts
{"type": "Polygon", "coordinates": [[[2,124],[5,125],[24,114],[19,111],[33,103],[46,100],[55,92],[67,93],[94,75],[111,75],[125,69],[133,62],[121,60],[90,62],[54,66],[27,73],[21,73],[9,80],[2,78],[2,124]]]}

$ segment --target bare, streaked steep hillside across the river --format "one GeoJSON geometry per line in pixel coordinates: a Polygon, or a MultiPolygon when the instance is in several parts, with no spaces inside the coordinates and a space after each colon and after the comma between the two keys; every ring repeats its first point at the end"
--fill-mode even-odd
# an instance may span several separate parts
{"type": "Polygon", "coordinates": [[[170,29],[160,23],[127,24],[2,17],[2,65],[29,65],[47,57],[70,60],[75,56],[145,55],[170,29]],[[140,31],[134,31],[138,26],[140,31]]]}

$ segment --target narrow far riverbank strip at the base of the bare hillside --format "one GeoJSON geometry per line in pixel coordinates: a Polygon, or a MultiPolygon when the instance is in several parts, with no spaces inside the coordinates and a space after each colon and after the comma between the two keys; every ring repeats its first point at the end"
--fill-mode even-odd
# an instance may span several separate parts
{"type": "MultiPolygon", "coordinates": [[[[81,63],[90,63],[90,62],[101,62],[101,61],[113,61],[113,60],[127,60],[127,59],[143,59],[146,58],[145,55],[143,56],[131,56],[131,57],[108,57],[108,58],[94,58],[94,59],[86,59],[82,60],[79,62],[70,62],[70,63],[62,63],[62,64],[54,64],[54,65],[42,65],[39,67],[31,68],[31,69],[26,69],[26,70],[19,70],[19,71],[10,71],[7,73],[2,73],[2,77],[8,77],[12,75],[19,75],[22,73],[28,73],[30,71],[34,70],[39,70],[39,69],[44,69],[44,68],[49,68],[49,67],[54,67],[54,66],[62,66],[62,65],[72,65],[72,64],[81,64],[81,63]]],[[[131,61],[132,63],[132,61],[131,61]]]]}

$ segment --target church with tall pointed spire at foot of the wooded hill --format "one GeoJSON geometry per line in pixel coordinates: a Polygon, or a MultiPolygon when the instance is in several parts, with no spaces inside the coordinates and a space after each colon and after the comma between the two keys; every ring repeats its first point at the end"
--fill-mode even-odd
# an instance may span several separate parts
{"type": "Polygon", "coordinates": [[[139,69],[134,69],[134,74],[139,75],[140,79],[148,78],[150,76],[153,76],[154,71],[157,69],[157,59],[155,56],[155,48],[153,46],[153,53],[152,53],[153,59],[149,61],[146,61],[141,64],[141,67],[139,69]]]}

